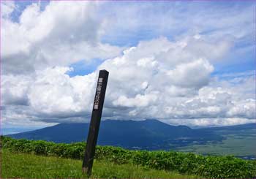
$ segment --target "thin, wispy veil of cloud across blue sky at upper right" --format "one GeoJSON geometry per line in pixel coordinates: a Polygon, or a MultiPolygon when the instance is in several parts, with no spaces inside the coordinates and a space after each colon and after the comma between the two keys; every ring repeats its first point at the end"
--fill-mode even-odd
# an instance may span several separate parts
{"type": "Polygon", "coordinates": [[[229,4],[202,1],[162,1],[157,4],[109,2],[100,9],[103,12],[102,16],[110,18],[109,23],[106,23],[104,36],[110,43],[120,40],[124,44],[134,45],[129,39],[152,39],[159,36],[170,39],[207,39],[207,44],[197,43],[188,48],[203,53],[211,64],[218,64],[222,69],[231,64],[244,65],[245,61],[249,61],[246,56],[253,54],[253,1],[233,1],[229,4]],[[220,42],[223,39],[226,39],[225,43],[220,42]],[[211,56],[208,56],[208,47],[211,48],[211,56]],[[227,53],[226,50],[230,47],[233,49],[227,53]],[[241,58],[244,58],[243,61],[241,58]]]}

